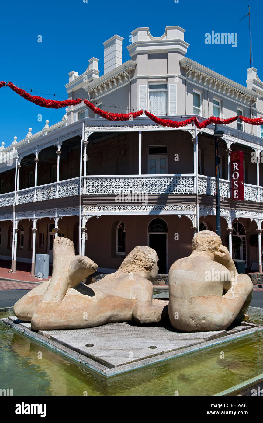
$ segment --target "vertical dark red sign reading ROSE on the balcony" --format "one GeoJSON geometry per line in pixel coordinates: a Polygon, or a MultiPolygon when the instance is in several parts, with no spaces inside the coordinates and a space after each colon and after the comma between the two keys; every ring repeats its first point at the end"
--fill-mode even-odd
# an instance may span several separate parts
{"type": "Polygon", "coordinates": [[[231,152],[232,200],[244,200],[244,155],[243,151],[231,152]]]}

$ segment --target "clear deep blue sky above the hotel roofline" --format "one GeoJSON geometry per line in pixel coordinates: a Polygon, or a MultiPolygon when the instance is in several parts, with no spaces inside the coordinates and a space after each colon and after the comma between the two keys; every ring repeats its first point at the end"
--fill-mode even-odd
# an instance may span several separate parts
{"type": "MultiPolygon", "coordinates": [[[[263,80],[262,21],[263,2],[251,0],[251,27],[254,67],[263,80]]],[[[3,8],[2,8],[3,10],[3,8]]],[[[247,0],[144,0],[91,1],[13,0],[0,17],[0,80],[10,80],[33,95],[61,100],[67,98],[68,72],[82,74],[88,59],[99,59],[103,74],[103,42],[115,34],[123,40],[123,62],[129,59],[126,46],[137,27],[149,27],[151,35],[162,36],[166,26],[179,25],[190,44],[187,57],[226,77],[246,85],[249,68],[247,0]],[[205,44],[205,33],[238,33],[237,47],[205,44]],[[38,35],[42,43],[38,43],[38,35]],[[47,91],[47,92],[46,92],[47,91]]],[[[52,110],[36,106],[19,97],[8,87],[0,89],[0,143],[21,140],[60,121],[65,109],[52,110]],[[38,114],[42,121],[38,122],[38,114]]]]}

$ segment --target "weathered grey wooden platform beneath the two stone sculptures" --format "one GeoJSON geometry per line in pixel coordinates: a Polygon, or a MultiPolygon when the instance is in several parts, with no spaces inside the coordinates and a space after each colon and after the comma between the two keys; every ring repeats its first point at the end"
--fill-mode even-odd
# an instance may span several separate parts
{"type": "Polygon", "coordinates": [[[16,316],[0,320],[32,341],[104,376],[121,374],[263,330],[263,326],[242,322],[241,326],[227,331],[183,333],[172,327],[133,326],[126,322],[36,332],[31,330],[30,323],[16,316]]]}

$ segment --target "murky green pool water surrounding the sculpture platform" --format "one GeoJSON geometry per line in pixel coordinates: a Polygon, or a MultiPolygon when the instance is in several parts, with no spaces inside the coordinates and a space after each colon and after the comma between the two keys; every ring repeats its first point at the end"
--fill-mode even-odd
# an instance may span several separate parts
{"type": "MultiPolygon", "coordinates": [[[[263,309],[249,308],[263,324],[263,309]]],[[[0,318],[9,312],[0,313],[0,318]]],[[[0,323],[0,388],[13,395],[214,395],[263,373],[263,331],[106,379],[0,323]],[[222,352],[225,358],[221,359],[222,352]],[[42,354],[42,358],[40,354],[42,354]]]]}

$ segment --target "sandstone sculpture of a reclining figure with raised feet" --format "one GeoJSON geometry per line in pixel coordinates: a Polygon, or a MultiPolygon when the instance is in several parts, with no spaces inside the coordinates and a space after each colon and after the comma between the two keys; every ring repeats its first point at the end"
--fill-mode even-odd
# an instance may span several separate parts
{"type": "Polygon", "coordinates": [[[15,315],[31,321],[34,330],[77,329],[134,319],[158,322],[167,315],[167,301],[152,299],[158,257],[150,247],[135,247],[117,272],[91,286],[81,281],[97,265],[75,256],[74,244],[57,237],[53,244],[53,273],[14,305],[15,315]]]}

